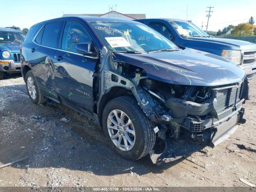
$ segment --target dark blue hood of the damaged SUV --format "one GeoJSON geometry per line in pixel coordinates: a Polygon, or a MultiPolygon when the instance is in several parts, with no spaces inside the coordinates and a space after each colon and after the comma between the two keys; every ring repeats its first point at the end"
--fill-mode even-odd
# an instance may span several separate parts
{"type": "Polygon", "coordinates": [[[220,86],[242,82],[245,72],[220,56],[190,48],[151,54],[114,53],[118,60],[143,68],[147,76],[172,84],[220,86]]]}

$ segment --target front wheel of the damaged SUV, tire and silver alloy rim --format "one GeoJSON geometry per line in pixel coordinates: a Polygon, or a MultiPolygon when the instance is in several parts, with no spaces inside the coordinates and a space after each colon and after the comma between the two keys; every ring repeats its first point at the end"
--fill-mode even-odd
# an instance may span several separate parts
{"type": "Polygon", "coordinates": [[[138,160],[154,147],[155,124],[130,96],[112,99],[103,111],[102,125],[110,145],[123,158],[138,160]]]}

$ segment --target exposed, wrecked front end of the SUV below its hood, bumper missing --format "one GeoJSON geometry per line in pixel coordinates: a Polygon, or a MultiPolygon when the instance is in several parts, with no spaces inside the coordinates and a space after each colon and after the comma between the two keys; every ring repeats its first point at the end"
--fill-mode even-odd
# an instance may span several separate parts
{"type": "Polygon", "coordinates": [[[202,87],[141,80],[132,92],[159,129],[152,162],[176,160],[198,145],[214,147],[226,140],[244,122],[245,84],[202,87]]]}

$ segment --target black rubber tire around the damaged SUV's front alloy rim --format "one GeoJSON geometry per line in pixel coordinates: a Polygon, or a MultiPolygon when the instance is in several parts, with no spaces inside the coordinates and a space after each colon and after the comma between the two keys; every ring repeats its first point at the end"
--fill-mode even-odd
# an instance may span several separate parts
{"type": "Polygon", "coordinates": [[[138,106],[138,102],[130,96],[114,98],[106,104],[103,115],[102,125],[104,134],[114,150],[123,158],[128,160],[138,160],[146,156],[154,147],[156,133],[154,132],[155,124],[151,122],[138,106]],[[129,151],[120,150],[110,139],[107,128],[108,115],[112,110],[122,110],[132,120],[136,139],[134,146],[129,151]]]}

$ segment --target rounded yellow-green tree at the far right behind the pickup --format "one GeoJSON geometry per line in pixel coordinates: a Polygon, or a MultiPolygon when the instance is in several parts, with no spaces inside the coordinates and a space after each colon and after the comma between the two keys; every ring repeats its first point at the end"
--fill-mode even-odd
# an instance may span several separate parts
{"type": "Polygon", "coordinates": [[[240,23],[236,26],[231,34],[234,36],[250,36],[254,34],[255,26],[250,23],[240,23]]]}

